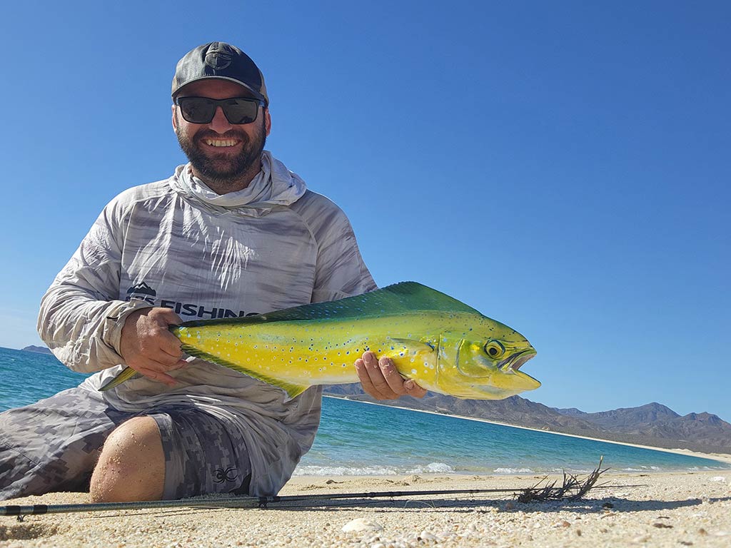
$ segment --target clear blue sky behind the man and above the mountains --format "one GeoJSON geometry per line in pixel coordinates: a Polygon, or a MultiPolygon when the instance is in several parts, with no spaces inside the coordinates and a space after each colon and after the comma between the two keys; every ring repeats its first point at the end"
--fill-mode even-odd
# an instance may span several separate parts
{"type": "Polygon", "coordinates": [[[384,286],[523,332],[525,394],[731,421],[726,1],[14,2],[3,8],[0,346],[105,203],[184,162],[178,58],[265,74],[268,149],[349,215],[384,286]]]}

